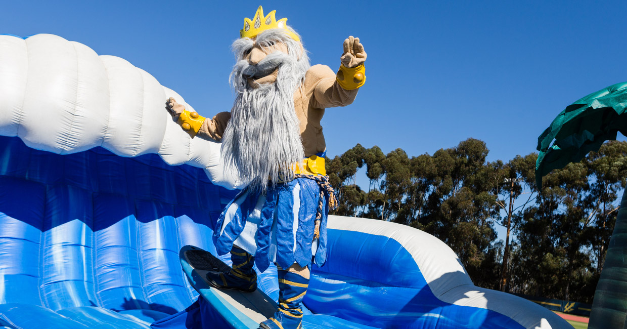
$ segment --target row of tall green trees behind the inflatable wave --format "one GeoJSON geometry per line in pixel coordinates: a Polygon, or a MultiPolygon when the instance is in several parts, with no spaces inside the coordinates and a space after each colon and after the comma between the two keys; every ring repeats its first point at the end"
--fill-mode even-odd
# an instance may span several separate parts
{"type": "Polygon", "coordinates": [[[550,173],[542,191],[535,186],[537,154],[507,162],[487,156],[485,143],[472,138],[411,157],[357,144],[327,158],[339,199],[332,213],[425,230],[456,252],[475,284],[492,289],[500,283],[505,245],[495,229],[510,214],[507,290],[591,302],[627,184],[627,143],[604,144],[550,173]]]}

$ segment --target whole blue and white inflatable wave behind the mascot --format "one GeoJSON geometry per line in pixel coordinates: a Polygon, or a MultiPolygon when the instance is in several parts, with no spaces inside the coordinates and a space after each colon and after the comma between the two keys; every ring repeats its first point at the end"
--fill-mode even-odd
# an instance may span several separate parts
{"type": "MultiPolygon", "coordinates": [[[[178,252],[215,252],[239,183],[219,144],[172,122],[171,96],[192,108],[122,58],[0,36],[1,328],[229,326],[197,301],[178,252]]],[[[278,297],[276,269],[259,284],[278,297]]],[[[329,217],[329,258],[304,305],[304,328],[572,328],[474,286],[435,237],[364,218],[329,217]]]]}

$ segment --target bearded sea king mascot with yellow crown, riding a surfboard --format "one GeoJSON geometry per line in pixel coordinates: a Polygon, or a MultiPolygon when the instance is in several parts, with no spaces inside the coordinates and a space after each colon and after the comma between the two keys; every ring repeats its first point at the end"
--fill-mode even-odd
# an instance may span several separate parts
{"type": "Polygon", "coordinates": [[[221,142],[226,166],[246,187],[224,209],[214,231],[218,254],[231,253],[233,270],[208,274],[216,288],[255,291],[256,272],[277,265],[279,308],[264,329],[297,329],[312,263],[327,257],[326,220],[335,196],[325,173],[326,144],[320,120],[327,107],[349,105],[364,85],[366,51],[359,38],[344,40],[337,73],[310,66],[300,36],[287,18],[261,6],[244,19],[233,42],[237,62],[229,81],[236,91],[231,112],[211,119],[167,108],[194,138],[221,142]]]}

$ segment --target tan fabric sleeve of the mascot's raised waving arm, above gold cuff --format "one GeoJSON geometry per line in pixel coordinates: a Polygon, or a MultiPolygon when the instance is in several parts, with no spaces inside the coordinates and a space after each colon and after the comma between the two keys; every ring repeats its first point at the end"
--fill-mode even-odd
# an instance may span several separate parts
{"type": "Polygon", "coordinates": [[[351,104],[357,97],[357,90],[346,90],[335,80],[335,72],[327,65],[314,65],[305,77],[305,84],[314,83],[314,97],[312,105],[317,109],[327,107],[346,106],[351,104]]]}

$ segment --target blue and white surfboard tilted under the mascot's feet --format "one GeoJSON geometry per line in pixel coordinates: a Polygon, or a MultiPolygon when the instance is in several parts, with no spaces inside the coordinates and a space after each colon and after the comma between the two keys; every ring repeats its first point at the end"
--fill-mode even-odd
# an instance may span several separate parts
{"type": "Polygon", "coordinates": [[[224,264],[211,252],[193,245],[186,245],[179,251],[181,267],[189,283],[215,308],[219,315],[236,329],[257,329],[259,323],[274,315],[277,302],[261,289],[244,293],[236,289],[218,289],[206,279],[208,272],[228,272],[231,267],[224,264]]]}

